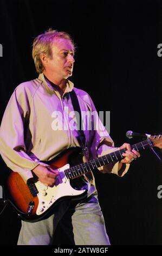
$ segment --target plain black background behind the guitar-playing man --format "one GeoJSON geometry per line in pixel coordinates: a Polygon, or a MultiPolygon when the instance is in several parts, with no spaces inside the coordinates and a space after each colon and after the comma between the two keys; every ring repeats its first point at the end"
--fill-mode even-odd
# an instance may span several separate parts
{"type": "MultiPolygon", "coordinates": [[[[90,94],[98,111],[111,111],[116,147],[140,141],[128,140],[127,130],[160,132],[161,7],[161,1],[0,0],[1,118],[14,88],[37,77],[31,45],[51,27],[74,38],[71,80],[90,94]]],[[[3,183],[2,160],[0,171],[3,183]]],[[[124,178],[99,172],[95,178],[112,245],[162,245],[162,164],[153,153],[144,151],[124,178]]],[[[15,245],[20,227],[7,206],[0,216],[1,245],[15,245]]]]}

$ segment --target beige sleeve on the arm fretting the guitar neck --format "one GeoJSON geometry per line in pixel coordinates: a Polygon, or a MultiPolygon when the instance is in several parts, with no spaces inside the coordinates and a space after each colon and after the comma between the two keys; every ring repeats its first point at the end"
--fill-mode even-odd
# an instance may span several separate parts
{"type": "MultiPolygon", "coordinates": [[[[95,159],[96,157],[100,157],[113,151],[119,150],[118,148],[114,147],[114,142],[112,138],[109,136],[105,126],[103,126],[98,113],[96,112],[95,106],[93,101],[90,99],[92,105],[92,112],[93,112],[93,129],[92,135],[90,136],[92,139],[90,141],[90,158],[95,159]]],[[[112,165],[112,169],[110,170],[110,165],[106,164],[105,166],[99,167],[98,169],[102,173],[114,173],[118,176],[124,176],[128,169],[129,164],[125,164],[122,170],[118,170],[119,161],[112,165]]]]}

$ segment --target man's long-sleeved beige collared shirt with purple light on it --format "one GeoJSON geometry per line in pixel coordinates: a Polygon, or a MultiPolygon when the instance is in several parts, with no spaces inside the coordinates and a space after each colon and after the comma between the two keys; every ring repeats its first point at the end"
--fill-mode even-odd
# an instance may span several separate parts
{"type": "MultiPolygon", "coordinates": [[[[48,161],[70,147],[80,146],[77,141],[77,131],[74,126],[74,111],[68,92],[74,84],[67,81],[67,88],[62,97],[53,88],[44,75],[37,79],[24,82],[16,87],[5,109],[0,129],[0,153],[7,166],[22,178],[32,178],[31,172],[40,161],[48,161]],[[63,124],[63,125],[62,125],[63,124]],[[74,127],[72,127],[74,126],[74,127]]],[[[95,111],[90,96],[83,90],[74,88],[79,99],[81,111],[95,111]]],[[[116,150],[113,141],[103,127],[98,115],[95,127],[88,130],[88,120],[85,119],[85,136],[88,145],[89,159],[95,159],[116,150]],[[87,129],[87,130],[86,130],[87,129]],[[104,142],[104,145],[100,143],[104,142]]],[[[128,170],[129,164],[121,176],[128,170]]],[[[100,170],[107,172],[107,168],[100,170]]],[[[112,169],[118,174],[118,163],[112,169]]]]}

